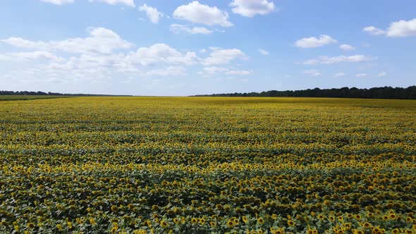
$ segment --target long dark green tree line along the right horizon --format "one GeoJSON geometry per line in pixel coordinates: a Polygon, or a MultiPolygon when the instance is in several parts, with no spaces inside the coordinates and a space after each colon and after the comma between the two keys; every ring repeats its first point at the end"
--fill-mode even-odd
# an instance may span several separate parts
{"type": "Polygon", "coordinates": [[[416,86],[403,87],[372,87],[359,89],[356,87],[342,87],[339,89],[314,89],[307,90],[270,90],[264,92],[244,92],[229,94],[195,95],[197,97],[341,97],[364,99],[416,99],[416,86]]]}

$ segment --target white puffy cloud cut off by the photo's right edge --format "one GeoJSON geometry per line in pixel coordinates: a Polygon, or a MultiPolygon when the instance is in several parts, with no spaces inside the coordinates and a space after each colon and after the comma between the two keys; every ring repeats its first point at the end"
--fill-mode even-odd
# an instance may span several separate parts
{"type": "Polygon", "coordinates": [[[399,20],[389,25],[386,30],[381,30],[374,26],[362,29],[371,35],[386,35],[387,37],[410,37],[416,35],[416,18],[412,20],[399,20]]]}

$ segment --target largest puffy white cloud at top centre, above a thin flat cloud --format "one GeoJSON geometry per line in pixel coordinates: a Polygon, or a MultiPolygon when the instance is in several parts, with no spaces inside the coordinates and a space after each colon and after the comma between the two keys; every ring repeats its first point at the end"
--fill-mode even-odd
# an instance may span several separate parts
{"type": "Polygon", "coordinates": [[[230,27],[233,25],[228,21],[228,13],[226,11],[221,11],[216,6],[211,7],[200,4],[199,1],[192,1],[188,5],[178,6],[173,12],[173,16],[181,20],[209,26],[230,27]]]}

